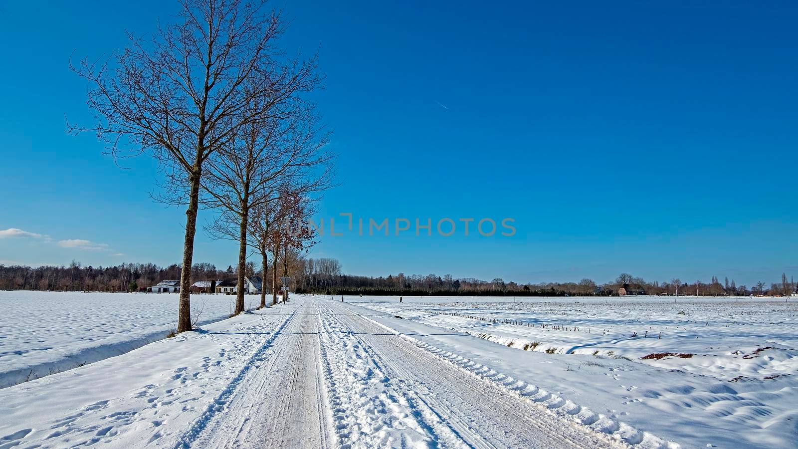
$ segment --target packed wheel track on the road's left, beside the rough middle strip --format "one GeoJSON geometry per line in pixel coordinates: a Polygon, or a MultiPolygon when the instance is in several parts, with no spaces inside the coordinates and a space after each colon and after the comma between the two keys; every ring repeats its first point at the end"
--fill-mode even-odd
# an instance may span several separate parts
{"type": "Polygon", "coordinates": [[[199,438],[184,443],[219,448],[332,447],[319,364],[319,324],[311,303],[294,312],[268,352],[253,360],[251,377],[236,387],[230,407],[203,416],[198,421],[204,426],[199,438]]]}

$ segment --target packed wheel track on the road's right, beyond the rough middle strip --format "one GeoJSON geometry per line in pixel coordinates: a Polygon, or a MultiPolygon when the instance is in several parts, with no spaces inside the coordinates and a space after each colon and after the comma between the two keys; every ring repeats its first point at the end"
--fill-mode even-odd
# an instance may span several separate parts
{"type": "MultiPolygon", "coordinates": [[[[339,324],[342,336],[361,342],[362,352],[386,375],[415,391],[440,447],[612,447],[613,441],[575,427],[519,401],[516,396],[386,332],[372,320],[336,302],[324,317],[339,324]],[[448,436],[448,438],[446,438],[448,436]]],[[[422,413],[424,415],[424,413],[422,413]]],[[[358,440],[354,439],[357,443],[358,440]]],[[[346,447],[346,446],[344,446],[346,447]]]]}

